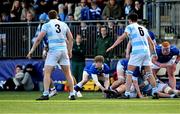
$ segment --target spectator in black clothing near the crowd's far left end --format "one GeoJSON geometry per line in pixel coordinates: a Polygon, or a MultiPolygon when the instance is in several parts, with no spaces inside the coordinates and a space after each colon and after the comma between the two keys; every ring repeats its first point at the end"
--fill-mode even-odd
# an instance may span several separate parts
{"type": "Polygon", "coordinates": [[[12,9],[10,12],[11,21],[18,22],[21,18],[22,8],[19,0],[14,0],[12,9]]]}

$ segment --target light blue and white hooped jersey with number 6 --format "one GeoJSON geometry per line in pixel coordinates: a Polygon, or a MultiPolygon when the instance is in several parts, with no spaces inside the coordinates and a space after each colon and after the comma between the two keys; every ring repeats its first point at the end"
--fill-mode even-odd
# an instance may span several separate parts
{"type": "Polygon", "coordinates": [[[147,39],[149,34],[145,27],[137,23],[132,23],[125,28],[125,32],[131,41],[131,54],[150,54],[147,39]]]}

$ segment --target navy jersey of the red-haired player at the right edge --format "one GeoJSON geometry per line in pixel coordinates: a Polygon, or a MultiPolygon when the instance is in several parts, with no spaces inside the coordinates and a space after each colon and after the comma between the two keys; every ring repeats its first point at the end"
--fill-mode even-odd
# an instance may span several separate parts
{"type": "Polygon", "coordinates": [[[176,46],[170,46],[170,53],[168,55],[163,55],[162,54],[162,46],[156,46],[156,53],[158,56],[157,61],[160,63],[166,63],[169,60],[171,60],[174,55],[179,56],[180,50],[178,48],[176,48],[176,46]]]}

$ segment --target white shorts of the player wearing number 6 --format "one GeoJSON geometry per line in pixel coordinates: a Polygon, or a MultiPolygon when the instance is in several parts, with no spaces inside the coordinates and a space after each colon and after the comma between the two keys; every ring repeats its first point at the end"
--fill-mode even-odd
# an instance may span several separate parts
{"type": "Polygon", "coordinates": [[[149,54],[131,54],[128,65],[150,66],[151,65],[151,57],[149,54]]]}

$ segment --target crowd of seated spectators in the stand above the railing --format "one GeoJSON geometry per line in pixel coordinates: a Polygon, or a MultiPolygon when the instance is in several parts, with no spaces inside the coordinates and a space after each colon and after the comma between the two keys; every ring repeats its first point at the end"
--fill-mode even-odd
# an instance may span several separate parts
{"type": "Polygon", "coordinates": [[[143,18],[142,0],[1,0],[0,22],[33,22],[48,19],[56,10],[61,21],[121,20],[132,12],[143,18]]]}

